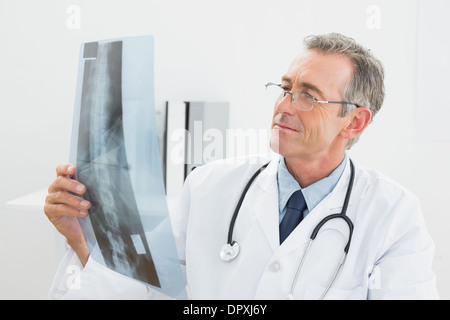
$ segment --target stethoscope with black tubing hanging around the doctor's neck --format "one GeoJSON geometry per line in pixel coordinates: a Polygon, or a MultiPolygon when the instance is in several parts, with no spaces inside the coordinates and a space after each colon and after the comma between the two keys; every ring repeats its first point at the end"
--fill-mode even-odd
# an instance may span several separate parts
{"type": "MultiPolygon", "coordinates": [[[[269,162],[270,163],[270,162],[269,162]]],[[[253,181],[259,176],[259,174],[261,172],[264,171],[264,169],[267,168],[267,166],[269,165],[269,163],[266,163],[265,165],[263,165],[261,168],[258,169],[258,171],[256,171],[253,176],[250,178],[250,180],[248,181],[247,185],[244,188],[244,191],[241,194],[241,197],[239,198],[239,201],[237,203],[236,209],[234,210],[233,216],[231,218],[231,222],[230,222],[230,227],[228,229],[228,239],[227,239],[227,243],[225,245],[223,245],[222,249],[220,250],[220,258],[223,261],[226,262],[230,262],[233,261],[234,259],[236,259],[236,257],[239,255],[240,252],[240,246],[239,243],[237,243],[236,241],[233,240],[233,230],[234,230],[234,224],[236,223],[236,219],[237,216],[239,214],[239,210],[241,209],[241,205],[242,202],[244,202],[245,199],[245,195],[247,194],[248,189],[250,189],[250,186],[253,184],[253,181]]],[[[291,290],[287,296],[287,299],[293,299],[293,292],[294,292],[294,288],[297,284],[297,280],[298,277],[300,275],[300,271],[302,270],[303,264],[306,260],[306,257],[308,255],[309,250],[311,249],[311,245],[314,242],[314,240],[317,237],[317,234],[320,231],[320,228],[323,227],[323,225],[325,223],[327,223],[330,220],[333,219],[343,219],[349,228],[349,235],[348,235],[348,241],[347,241],[347,245],[344,248],[344,253],[342,255],[342,258],[339,261],[339,264],[336,268],[336,271],[333,273],[333,276],[331,278],[331,280],[328,283],[328,286],[326,287],[325,291],[322,293],[322,295],[320,296],[320,300],[322,300],[326,294],[328,293],[328,291],[330,290],[330,288],[333,286],[334,281],[336,280],[339,271],[341,270],[343,264],[345,263],[345,258],[347,257],[348,254],[348,250],[350,249],[350,243],[352,241],[352,235],[353,235],[353,222],[352,220],[347,216],[347,207],[348,207],[348,203],[350,200],[350,195],[352,193],[352,188],[353,188],[353,182],[355,181],[355,168],[353,166],[353,162],[352,160],[350,160],[350,181],[348,183],[348,187],[347,187],[347,193],[345,194],[345,199],[344,199],[344,204],[342,206],[342,211],[341,213],[335,213],[335,214],[331,214],[326,216],[324,219],[322,219],[314,228],[313,232],[311,233],[311,236],[309,238],[309,243],[308,246],[306,247],[306,250],[303,254],[302,260],[300,261],[300,264],[297,268],[297,271],[295,273],[295,277],[294,280],[292,281],[292,286],[291,286],[291,290]]]]}

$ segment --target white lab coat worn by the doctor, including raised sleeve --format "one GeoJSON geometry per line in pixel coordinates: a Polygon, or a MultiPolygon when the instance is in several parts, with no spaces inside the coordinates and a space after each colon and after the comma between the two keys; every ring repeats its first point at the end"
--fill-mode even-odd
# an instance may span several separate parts
{"type": "MultiPolygon", "coordinates": [[[[171,212],[186,282],[193,299],[285,299],[312,230],[325,216],[339,213],[350,166],[334,190],[279,244],[278,155],[255,180],[242,204],[233,240],[241,251],[224,262],[219,252],[244,186],[265,160],[247,157],[213,162],[187,178],[171,212]]],[[[350,251],[325,299],[437,299],[432,271],[434,244],[418,199],[391,179],[355,164],[347,215],[354,223],[350,251]]],[[[318,299],[347,243],[341,219],[323,226],[305,261],[293,296],[318,299]]],[[[62,261],[50,298],[158,299],[164,295],[99,265],[92,258],[81,270],[70,250],[62,261]],[[69,271],[68,271],[69,270],[69,271]]]]}

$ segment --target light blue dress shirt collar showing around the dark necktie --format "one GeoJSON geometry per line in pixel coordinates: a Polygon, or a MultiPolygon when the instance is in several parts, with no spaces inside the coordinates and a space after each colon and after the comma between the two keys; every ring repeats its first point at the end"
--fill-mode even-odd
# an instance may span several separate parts
{"type": "Polygon", "coordinates": [[[345,154],[341,164],[326,178],[313,183],[307,188],[302,189],[297,180],[289,173],[284,158],[281,158],[278,164],[277,182],[278,182],[278,208],[280,211],[280,222],[286,214],[286,204],[291,195],[302,190],[303,197],[306,202],[306,209],[303,211],[303,218],[314,209],[314,207],[322,201],[331,191],[333,191],[347,163],[348,155],[345,154]]]}

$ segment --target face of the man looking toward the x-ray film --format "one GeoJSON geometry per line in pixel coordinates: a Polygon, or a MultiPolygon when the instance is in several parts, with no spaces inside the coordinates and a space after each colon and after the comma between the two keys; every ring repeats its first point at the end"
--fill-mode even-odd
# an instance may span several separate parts
{"type": "MultiPolygon", "coordinates": [[[[316,100],[343,101],[352,71],[350,60],[344,56],[307,50],[292,62],[282,78],[282,87],[292,93],[308,93],[316,100]]],[[[339,133],[349,118],[339,116],[341,104],[315,103],[311,111],[302,111],[295,109],[291,101],[291,95],[286,95],[275,105],[272,150],[286,158],[312,159],[326,156],[336,148],[345,149],[346,141],[339,133]]]]}

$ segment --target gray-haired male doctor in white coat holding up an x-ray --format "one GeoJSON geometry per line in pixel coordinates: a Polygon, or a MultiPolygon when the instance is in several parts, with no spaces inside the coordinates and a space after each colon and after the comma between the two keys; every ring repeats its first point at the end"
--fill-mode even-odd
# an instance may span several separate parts
{"type": "MultiPolygon", "coordinates": [[[[434,244],[419,200],[381,173],[353,164],[346,153],[383,103],[382,64],[340,34],[308,37],[305,46],[281,83],[266,86],[277,91],[271,136],[277,155],[194,170],[171,212],[190,297],[438,298],[434,244]],[[353,228],[345,219],[329,220],[309,246],[313,230],[332,214],[345,215],[353,228]],[[240,250],[230,258],[234,241],[240,250]]],[[[70,245],[50,298],[164,298],[90,258],[76,220],[90,204],[66,192],[86,191],[66,177],[75,170],[71,164],[57,167],[45,202],[47,217],[70,245]],[[68,270],[80,270],[76,281],[68,270]]]]}

